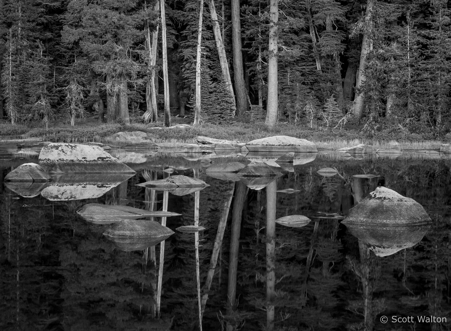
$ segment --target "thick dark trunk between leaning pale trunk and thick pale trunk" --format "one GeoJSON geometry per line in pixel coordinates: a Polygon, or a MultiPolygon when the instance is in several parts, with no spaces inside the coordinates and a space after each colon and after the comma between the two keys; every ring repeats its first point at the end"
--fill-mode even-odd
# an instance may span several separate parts
{"type": "Polygon", "coordinates": [[[232,47],[233,47],[233,71],[236,91],[236,108],[238,115],[244,115],[249,109],[249,97],[244,86],[243,54],[241,51],[241,20],[239,18],[239,0],[231,0],[230,10],[232,14],[232,47]]]}

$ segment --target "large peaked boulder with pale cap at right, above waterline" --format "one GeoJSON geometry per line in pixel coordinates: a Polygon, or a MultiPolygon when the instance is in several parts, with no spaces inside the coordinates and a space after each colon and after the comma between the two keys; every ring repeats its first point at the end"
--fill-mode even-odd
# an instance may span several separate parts
{"type": "Polygon", "coordinates": [[[414,225],[430,222],[426,211],[414,199],[403,197],[390,188],[377,187],[351,208],[342,222],[348,224],[414,225]]]}

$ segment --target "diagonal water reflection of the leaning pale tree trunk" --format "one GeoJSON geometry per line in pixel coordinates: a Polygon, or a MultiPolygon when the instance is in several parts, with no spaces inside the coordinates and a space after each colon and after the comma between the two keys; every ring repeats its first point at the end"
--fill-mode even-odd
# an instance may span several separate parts
{"type": "Polygon", "coordinates": [[[224,237],[224,230],[226,230],[227,218],[229,216],[230,203],[232,202],[234,190],[235,186],[232,186],[230,191],[225,193],[228,194],[229,198],[224,202],[224,205],[222,206],[223,209],[221,220],[219,221],[215,243],[213,244],[212,257],[210,258],[210,266],[208,267],[207,280],[205,280],[205,285],[203,286],[204,294],[202,296],[202,314],[205,310],[205,305],[208,299],[208,292],[210,291],[213,276],[215,274],[216,262],[218,260],[218,255],[221,251],[222,238],[224,237]]]}

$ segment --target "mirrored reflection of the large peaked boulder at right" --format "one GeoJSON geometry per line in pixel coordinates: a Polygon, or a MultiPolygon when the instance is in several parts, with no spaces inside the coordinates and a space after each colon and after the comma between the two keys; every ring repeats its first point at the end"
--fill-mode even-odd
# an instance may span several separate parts
{"type": "Polygon", "coordinates": [[[346,227],[351,234],[367,244],[377,256],[387,256],[419,243],[430,225],[346,223],[346,227]]]}

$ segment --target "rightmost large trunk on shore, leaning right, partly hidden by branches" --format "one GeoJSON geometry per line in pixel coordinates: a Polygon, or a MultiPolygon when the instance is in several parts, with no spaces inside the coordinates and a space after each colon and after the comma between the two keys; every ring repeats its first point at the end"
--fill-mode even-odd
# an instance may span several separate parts
{"type": "Polygon", "coordinates": [[[367,79],[365,73],[367,65],[367,55],[373,49],[373,40],[371,39],[371,33],[373,30],[373,1],[377,0],[367,0],[367,8],[365,12],[366,26],[363,33],[362,51],[360,52],[359,74],[355,83],[356,97],[351,107],[351,111],[353,112],[354,118],[356,119],[362,118],[363,115],[365,99],[363,87],[367,79]]]}

